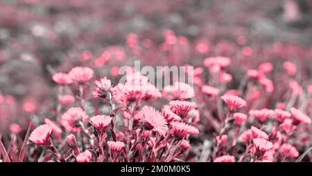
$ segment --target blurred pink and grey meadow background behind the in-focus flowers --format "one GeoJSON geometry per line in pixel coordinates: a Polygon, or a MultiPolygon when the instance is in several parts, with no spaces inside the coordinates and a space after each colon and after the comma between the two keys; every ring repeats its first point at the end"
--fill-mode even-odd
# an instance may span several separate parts
{"type": "Polygon", "coordinates": [[[134,60],[196,67],[223,55],[233,68],[292,59],[310,74],[311,44],[312,0],[0,0],[0,117],[49,115],[51,74],[73,66],[116,83],[134,60]]]}

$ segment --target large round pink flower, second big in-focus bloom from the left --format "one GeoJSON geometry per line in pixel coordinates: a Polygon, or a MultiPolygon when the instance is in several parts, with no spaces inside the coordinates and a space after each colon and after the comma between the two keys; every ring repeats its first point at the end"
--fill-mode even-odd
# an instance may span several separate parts
{"type": "Polygon", "coordinates": [[[80,107],[69,108],[60,119],[60,124],[64,126],[67,131],[80,130],[79,121],[85,121],[89,119],[89,116],[80,107]]]}

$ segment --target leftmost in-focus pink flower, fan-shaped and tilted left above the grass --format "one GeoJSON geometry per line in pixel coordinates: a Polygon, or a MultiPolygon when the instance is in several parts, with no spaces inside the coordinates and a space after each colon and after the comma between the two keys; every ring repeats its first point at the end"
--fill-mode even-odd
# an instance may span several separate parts
{"type": "Polygon", "coordinates": [[[49,146],[51,144],[51,133],[52,128],[49,124],[44,124],[35,128],[28,139],[33,141],[35,144],[49,146]]]}

